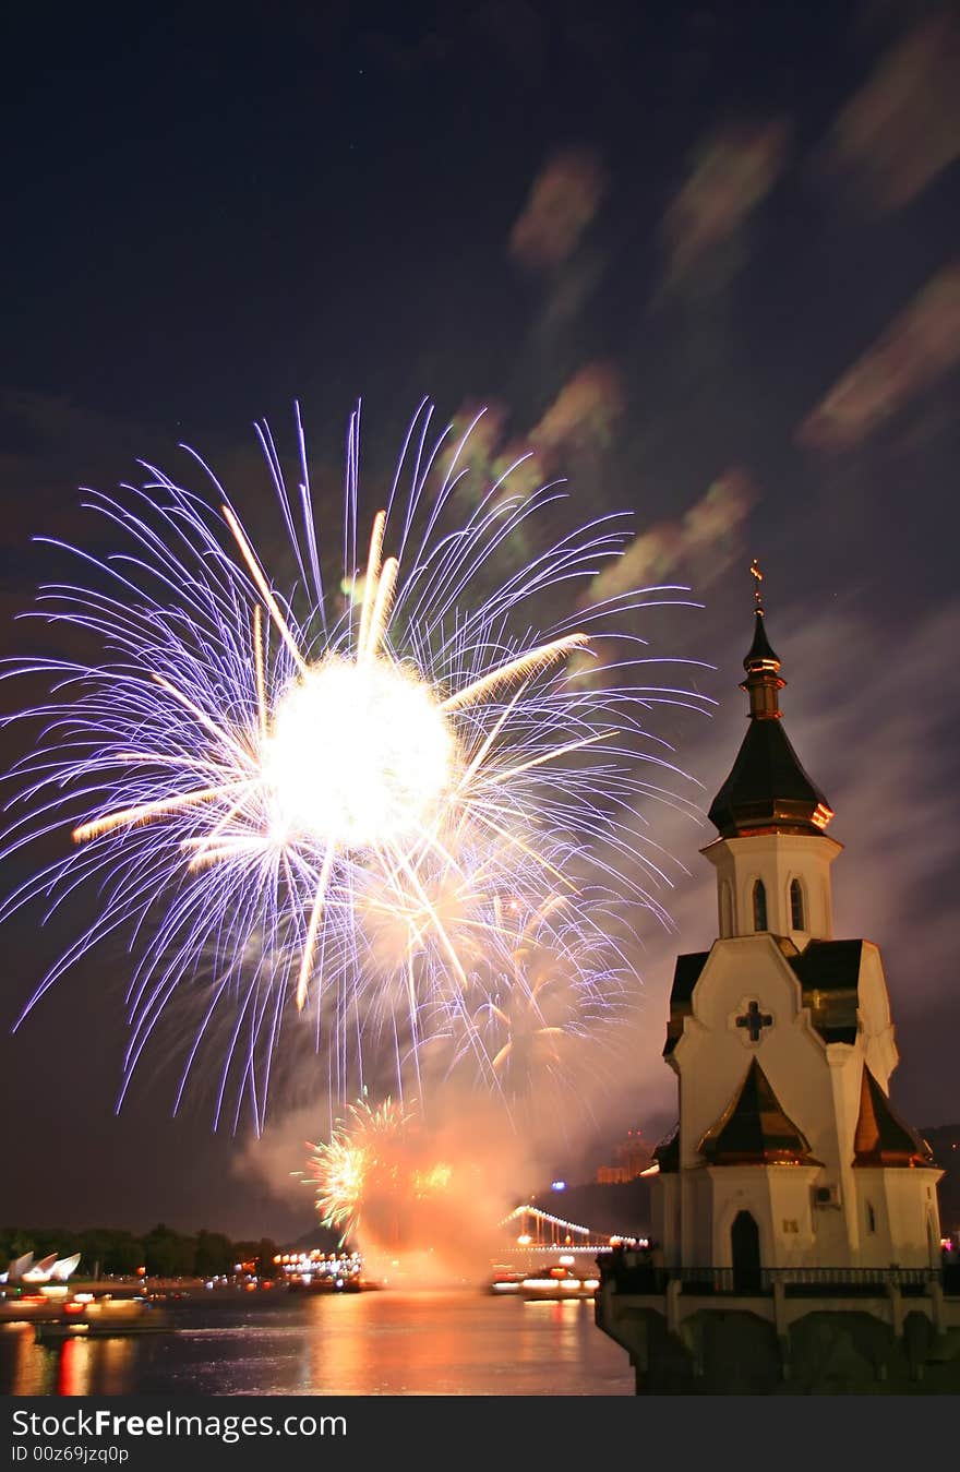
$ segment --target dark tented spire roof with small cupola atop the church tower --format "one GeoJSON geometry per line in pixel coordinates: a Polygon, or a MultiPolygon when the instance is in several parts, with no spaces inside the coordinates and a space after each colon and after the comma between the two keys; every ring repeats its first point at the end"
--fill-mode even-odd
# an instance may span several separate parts
{"type": "Polygon", "coordinates": [[[770,648],[764,614],[757,609],[754,642],[744,659],[749,726],[736,761],[710,808],[721,838],[744,833],[822,833],[833,817],[820,789],[804,771],[780,717],[780,661],[770,648]]]}

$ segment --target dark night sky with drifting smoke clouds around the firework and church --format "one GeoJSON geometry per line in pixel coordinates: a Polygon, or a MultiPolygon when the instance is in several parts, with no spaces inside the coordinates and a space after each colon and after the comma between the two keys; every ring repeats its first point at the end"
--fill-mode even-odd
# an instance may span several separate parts
{"type": "MultiPolygon", "coordinates": [[[[290,449],[299,400],[336,527],[358,399],[368,505],[424,394],[443,422],[486,405],[492,456],[533,447],[585,520],[632,511],[632,578],[702,605],[635,631],[704,662],[714,717],[654,717],[704,810],[744,732],[760,558],[786,730],[845,845],[836,933],[886,964],[894,1103],[922,1128],[957,1122],[956,10],[163,12],[7,19],[3,654],[43,639],[15,623],[52,571],[31,539],[84,545],[78,487],[135,480],[140,458],[186,475],[186,442],[269,528],[252,422],[290,449]]],[[[19,699],[3,686],[4,710],[19,699]]],[[[4,736],[4,762],[22,740],[4,736]]],[[[713,829],[643,815],[673,855],[674,930],[638,921],[629,1067],[543,1172],[676,1117],[660,1050],[673,957],[716,935],[713,829]]],[[[25,873],[7,861],[0,888],[25,873]]],[[[122,951],[10,1036],[69,941],[38,920],[1,938],[0,1219],[302,1232],[309,1200],[271,1192],[262,1144],[212,1133],[203,1104],[171,1119],[163,1060],[115,1116],[122,951]]]]}

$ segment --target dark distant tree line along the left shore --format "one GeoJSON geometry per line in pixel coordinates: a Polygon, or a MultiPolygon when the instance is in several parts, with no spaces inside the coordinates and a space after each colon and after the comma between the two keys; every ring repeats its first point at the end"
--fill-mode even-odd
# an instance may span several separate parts
{"type": "Polygon", "coordinates": [[[78,1278],[96,1273],[134,1275],[144,1267],[152,1278],[212,1278],[233,1273],[237,1263],[252,1263],[261,1278],[277,1272],[274,1257],[280,1248],[271,1238],[231,1241],[222,1232],[202,1228],[193,1235],[175,1232],[159,1222],[138,1236],[113,1228],[90,1228],[71,1232],[63,1228],[0,1228],[0,1272],[25,1253],[34,1257],[71,1257],[80,1253],[78,1278]]]}

